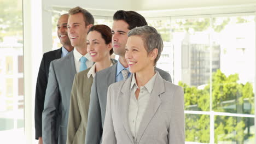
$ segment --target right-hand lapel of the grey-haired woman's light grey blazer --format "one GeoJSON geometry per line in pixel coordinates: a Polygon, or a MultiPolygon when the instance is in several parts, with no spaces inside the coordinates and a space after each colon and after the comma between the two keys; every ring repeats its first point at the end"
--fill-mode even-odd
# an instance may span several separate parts
{"type": "Polygon", "coordinates": [[[150,99],[148,101],[147,109],[144,112],[141,124],[139,125],[139,129],[137,131],[137,141],[141,140],[141,137],[144,134],[144,131],[147,129],[149,122],[154,117],[156,111],[158,110],[159,106],[161,105],[161,99],[160,95],[165,92],[165,85],[164,81],[159,75],[158,72],[156,72],[156,79],[154,83],[154,88],[152,93],[150,94],[150,99]]]}

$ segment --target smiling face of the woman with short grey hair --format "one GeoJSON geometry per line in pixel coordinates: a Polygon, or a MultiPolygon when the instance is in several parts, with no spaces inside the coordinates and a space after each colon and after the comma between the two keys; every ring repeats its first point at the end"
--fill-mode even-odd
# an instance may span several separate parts
{"type": "Polygon", "coordinates": [[[154,67],[154,59],[158,50],[154,49],[148,54],[142,38],[138,35],[128,38],[125,50],[125,59],[131,73],[148,71],[154,67]]]}

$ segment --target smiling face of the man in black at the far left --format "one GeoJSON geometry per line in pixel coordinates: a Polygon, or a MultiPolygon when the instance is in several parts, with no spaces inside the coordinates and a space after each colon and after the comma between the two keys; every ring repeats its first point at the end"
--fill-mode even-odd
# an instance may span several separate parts
{"type": "Polygon", "coordinates": [[[68,15],[62,15],[57,22],[57,35],[62,45],[70,45],[70,40],[67,34],[68,15]]]}

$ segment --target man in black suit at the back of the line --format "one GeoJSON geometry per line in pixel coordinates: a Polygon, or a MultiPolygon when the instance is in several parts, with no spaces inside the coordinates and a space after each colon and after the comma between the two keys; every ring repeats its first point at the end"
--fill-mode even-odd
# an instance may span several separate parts
{"type": "Polygon", "coordinates": [[[45,91],[48,82],[48,74],[50,62],[54,59],[58,59],[67,55],[71,52],[74,47],[67,34],[67,21],[68,14],[63,14],[60,16],[57,22],[57,35],[60,39],[62,47],[60,49],[49,51],[44,53],[40,68],[37,76],[37,86],[36,86],[36,98],[34,106],[34,122],[36,128],[36,139],[39,140],[39,144],[43,142],[42,140],[42,112],[44,110],[44,98],[45,91]]]}

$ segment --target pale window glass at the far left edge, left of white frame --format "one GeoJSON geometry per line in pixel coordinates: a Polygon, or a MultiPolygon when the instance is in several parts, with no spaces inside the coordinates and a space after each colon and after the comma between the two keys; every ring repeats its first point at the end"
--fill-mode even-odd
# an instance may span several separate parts
{"type": "Polygon", "coordinates": [[[0,4],[1,143],[23,143],[25,138],[22,21],[22,1],[2,0],[0,4]]]}

